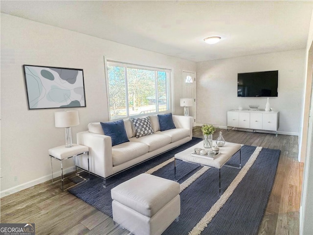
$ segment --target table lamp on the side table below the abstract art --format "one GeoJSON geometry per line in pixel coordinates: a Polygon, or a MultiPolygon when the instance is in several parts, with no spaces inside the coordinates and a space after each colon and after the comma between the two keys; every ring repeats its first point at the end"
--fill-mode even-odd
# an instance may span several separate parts
{"type": "Polygon", "coordinates": [[[70,127],[79,125],[78,112],[75,110],[55,112],[54,120],[55,127],[65,128],[65,147],[72,147],[72,132],[70,127]]]}

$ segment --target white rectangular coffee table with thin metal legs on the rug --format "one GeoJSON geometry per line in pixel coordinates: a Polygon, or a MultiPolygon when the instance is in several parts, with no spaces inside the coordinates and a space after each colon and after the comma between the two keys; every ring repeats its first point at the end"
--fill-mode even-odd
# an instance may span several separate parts
{"type": "Polygon", "coordinates": [[[206,165],[214,168],[219,169],[219,193],[221,195],[221,167],[227,163],[227,161],[238,151],[240,152],[239,157],[239,167],[232,166],[232,165],[225,165],[228,167],[235,167],[235,168],[241,168],[241,144],[239,143],[230,143],[225,142],[225,145],[223,147],[220,147],[220,155],[217,156],[215,159],[206,159],[204,157],[198,157],[198,156],[192,156],[191,153],[194,152],[195,148],[202,148],[203,149],[203,141],[195,144],[194,146],[191,146],[190,148],[185,149],[184,151],[181,151],[174,155],[174,170],[176,175],[176,160],[181,160],[188,163],[193,164],[201,164],[206,165]]]}

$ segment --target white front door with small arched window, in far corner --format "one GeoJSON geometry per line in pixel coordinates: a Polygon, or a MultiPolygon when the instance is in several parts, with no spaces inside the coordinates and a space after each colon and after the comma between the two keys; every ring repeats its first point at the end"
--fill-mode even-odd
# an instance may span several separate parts
{"type": "Polygon", "coordinates": [[[196,125],[196,72],[182,71],[182,94],[180,98],[192,98],[193,105],[189,107],[189,116],[194,118],[196,125]]]}

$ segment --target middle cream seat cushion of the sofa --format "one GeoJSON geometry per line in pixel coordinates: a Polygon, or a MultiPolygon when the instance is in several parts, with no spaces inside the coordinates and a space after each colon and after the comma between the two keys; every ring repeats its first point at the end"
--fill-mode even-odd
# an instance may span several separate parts
{"type": "Polygon", "coordinates": [[[166,135],[148,135],[141,138],[131,138],[131,142],[141,142],[149,146],[149,152],[152,152],[158,148],[164,147],[171,142],[171,137],[166,135]]]}

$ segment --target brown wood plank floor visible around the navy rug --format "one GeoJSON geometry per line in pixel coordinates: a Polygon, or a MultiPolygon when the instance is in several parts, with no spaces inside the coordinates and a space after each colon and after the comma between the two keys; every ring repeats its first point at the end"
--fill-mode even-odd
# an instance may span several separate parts
{"type": "MultiPolygon", "coordinates": [[[[231,130],[226,141],[280,149],[277,173],[259,235],[298,235],[303,164],[297,161],[298,137],[231,130]]],[[[202,138],[201,127],[193,131],[202,138]]],[[[217,130],[213,139],[219,135],[217,130]]],[[[47,181],[0,200],[1,223],[35,223],[36,235],[127,235],[112,218],[89,206],[60,184],[47,181]]]]}

